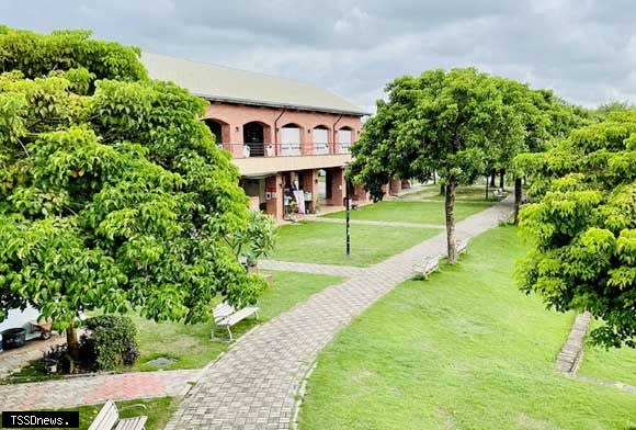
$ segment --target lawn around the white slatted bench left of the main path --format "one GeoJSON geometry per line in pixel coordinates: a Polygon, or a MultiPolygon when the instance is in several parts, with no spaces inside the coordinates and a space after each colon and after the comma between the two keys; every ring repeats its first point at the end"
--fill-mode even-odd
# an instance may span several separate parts
{"type": "MultiPolygon", "coordinates": [[[[336,285],[342,278],[272,271],[272,285],[259,298],[259,317],[264,322],[305,302],[321,290],[336,285]]],[[[138,329],[137,339],[141,355],[133,369],[135,371],[154,371],[156,366],[147,362],[158,357],[175,360],[175,363],[163,369],[198,369],[227,351],[229,343],[209,340],[212,322],[186,326],[180,322],[155,322],[132,315],[138,329]]],[[[235,338],[240,337],[257,325],[254,318],[248,318],[231,328],[235,338]]],[[[216,332],[219,339],[227,338],[227,331],[216,332]]]]}

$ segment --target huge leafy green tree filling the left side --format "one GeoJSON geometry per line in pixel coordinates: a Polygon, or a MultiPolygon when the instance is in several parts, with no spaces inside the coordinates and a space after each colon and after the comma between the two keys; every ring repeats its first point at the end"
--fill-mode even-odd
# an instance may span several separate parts
{"type": "Polygon", "coordinates": [[[264,286],[226,242],[249,213],[204,102],[89,36],[0,27],[0,319],[31,304],[73,354],[81,312],[194,322],[264,286]]]}

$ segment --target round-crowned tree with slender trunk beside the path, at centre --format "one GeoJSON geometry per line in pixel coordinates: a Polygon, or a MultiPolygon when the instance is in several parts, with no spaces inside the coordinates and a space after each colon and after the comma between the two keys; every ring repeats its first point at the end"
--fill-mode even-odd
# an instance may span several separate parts
{"type": "Polygon", "coordinates": [[[377,114],[353,148],[351,174],[379,200],[391,177],[428,180],[438,172],[445,185],[448,261],[454,263],[455,189],[486,170],[498,142],[523,139],[523,123],[506,103],[500,81],[472,68],[399,78],[386,91],[388,100],[378,101],[377,114]]]}

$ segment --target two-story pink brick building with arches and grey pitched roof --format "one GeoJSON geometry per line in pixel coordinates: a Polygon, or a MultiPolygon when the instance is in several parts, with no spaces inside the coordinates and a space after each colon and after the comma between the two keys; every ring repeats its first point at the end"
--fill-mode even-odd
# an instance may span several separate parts
{"type": "MultiPolygon", "coordinates": [[[[253,208],[282,219],[292,204],[306,212],[343,204],[344,166],[366,112],[294,80],[156,54],[143,61],[152,78],[209,101],[202,120],[232,155],[253,208]]],[[[350,193],[367,200],[359,186],[350,193]]]]}

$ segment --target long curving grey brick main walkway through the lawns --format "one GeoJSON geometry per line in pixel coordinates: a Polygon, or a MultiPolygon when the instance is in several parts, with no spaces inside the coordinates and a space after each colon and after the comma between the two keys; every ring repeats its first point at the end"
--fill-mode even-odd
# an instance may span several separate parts
{"type": "MultiPolygon", "coordinates": [[[[457,235],[462,239],[478,235],[510,211],[508,199],[458,223],[457,235]]],[[[291,428],[295,397],[318,352],[355,316],[409,279],[424,257],[443,253],[445,235],[440,234],[243,336],[204,370],[167,429],[291,428]]]]}

